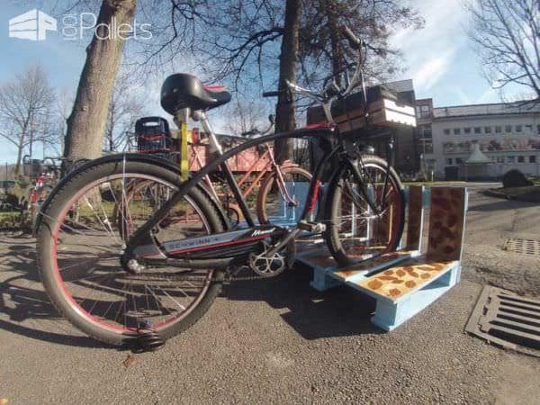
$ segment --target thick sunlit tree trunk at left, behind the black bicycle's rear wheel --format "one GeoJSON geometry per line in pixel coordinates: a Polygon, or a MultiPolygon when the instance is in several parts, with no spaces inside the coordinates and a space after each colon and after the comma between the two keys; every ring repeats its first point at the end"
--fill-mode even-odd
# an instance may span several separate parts
{"type": "Polygon", "coordinates": [[[86,49],[85,67],[67,119],[64,156],[68,159],[102,155],[107,111],[125,41],[116,30],[123,23],[132,23],[136,5],[137,0],[103,0],[99,28],[86,49]]]}

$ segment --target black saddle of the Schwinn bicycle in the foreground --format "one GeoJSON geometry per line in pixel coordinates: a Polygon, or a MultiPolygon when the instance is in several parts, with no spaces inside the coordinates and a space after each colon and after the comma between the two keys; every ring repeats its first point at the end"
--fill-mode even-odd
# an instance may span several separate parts
{"type": "Polygon", "coordinates": [[[175,115],[182,108],[210,110],[229,103],[230,93],[222,85],[202,85],[196,76],[175,73],[168,76],[161,86],[161,106],[175,115]]]}

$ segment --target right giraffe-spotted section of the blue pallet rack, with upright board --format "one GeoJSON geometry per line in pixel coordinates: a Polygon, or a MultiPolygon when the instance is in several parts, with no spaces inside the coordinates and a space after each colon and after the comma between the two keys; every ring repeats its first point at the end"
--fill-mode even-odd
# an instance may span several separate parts
{"type": "Polygon", "coordinates": [[[459,282],[467,193],[464,188],[431,190],[428,251],[400,266],[347,283],[377,301],[372,322],[390,331],[424,310],[459,282]]]}

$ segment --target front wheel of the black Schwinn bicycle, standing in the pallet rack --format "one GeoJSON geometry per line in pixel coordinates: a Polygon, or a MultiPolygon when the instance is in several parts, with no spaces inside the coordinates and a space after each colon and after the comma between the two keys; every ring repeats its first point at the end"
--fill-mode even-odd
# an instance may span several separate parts
{"type": "Polygon", "coordinates": [[[387,163],[381,157],[364,156],[359,163],[362,183],[347,166],[339,167],[330,180],[325,218],[325,238],[339,266],[350,266],[398,247],[403,232],[405,201],[400,177],[391,168],[385,185],[387,163]],[[372,211],[361,193],[380,210],[372,211]]]}

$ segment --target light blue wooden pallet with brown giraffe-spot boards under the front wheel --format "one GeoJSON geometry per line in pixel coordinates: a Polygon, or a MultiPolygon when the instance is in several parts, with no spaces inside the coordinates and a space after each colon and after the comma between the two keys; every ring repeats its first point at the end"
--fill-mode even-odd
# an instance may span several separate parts
{"type": "Polygon", "coordinates": [[[351,268],[338,268],[335,264],[331,264],[330,261],[323,261],[324,265],[321,265],[318,260],[313,260],[313,258],[326,258],[326,256],[329,256],[328,250],[320,249],[316,253],[309,251],[301,255],[299,260],[313,268],[311,286],[319,291],[324,291],[345,284],[374,297],[376,311],[372,322],[386,331],[395,329],[404,321],[418,314],[430,303],[435,302],[460,280],[467,193],[465,189],[445,187],[438,189],[435,194],[432,195],[429,189],[421,189],[419,208],[421,211],[419,217],[417,217],[420,220],[419,240],[416,245],[414,240],[408,237],[405,243],[401,243],[401,245],[405,245],[404,248],[388,254],[387,257],[383,255],[383,257],[370,258],[367,255],[365,262],[351,268]],[[450,200],[450,196],[455,200],[450,200]],[[446,197],[448,197],[448,201],[445,200],[446,197]],[[434,202],[436,203],[435,209],[433,208],[434,202]],[[449,202],[451,203],[449,204],[449,202]],[[445,257],[445,254],[437,253],[437,244],[435,242],[431,245],[428,244],[428,257],[420,257],[420,241],[424,222],[423,211],[424,207],[429,203],[432,204],[431,214],[437,217],[430,219],[430,241],[436,239],[438,235],[436,226],[440,224],[441,220],[444,221],[446,217],[451,218],[452,226],[457,229],[452,233],[457,235],[455,240],[445,241],[446,244],[455,247],[451,257],[445,257]],[[437,204],[440,206],[437,206],[437,204]],[[441,206],[446,207],[446,210],[441,211],[441,206]],[[422,280],[417,273],[425,273],[428,280],[422,280]],[[407,280],[409,274],[415,275],[416,278],[410,276],[410,279],[407,280]],[[395,278],[395,281],[383,283],[379,281],[392,279],[392,277],[395,278]],[[398,288],[392,289],[392,283],[394,282],[397,283],[396,285],[409,285],[410,288],[407,287],[404,293],[400,292],[398,288]],[[383,285],[384,283],[387,284],[383,285]]]}

